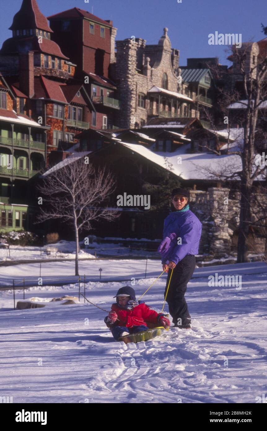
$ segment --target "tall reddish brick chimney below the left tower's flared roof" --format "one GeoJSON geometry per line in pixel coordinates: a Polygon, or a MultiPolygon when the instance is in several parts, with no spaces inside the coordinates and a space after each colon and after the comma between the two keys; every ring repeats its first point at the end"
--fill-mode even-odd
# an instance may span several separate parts
{"type": "Polygon", "coordinates": [[[34,53],[19,54],[19,89],[30,99],[34,96],[34,53]]]}

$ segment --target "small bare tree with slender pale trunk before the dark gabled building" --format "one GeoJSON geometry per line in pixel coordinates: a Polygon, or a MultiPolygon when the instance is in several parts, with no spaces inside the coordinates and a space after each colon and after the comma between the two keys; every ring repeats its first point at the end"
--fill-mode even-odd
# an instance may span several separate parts
{"type": "Polygon", "coordinates": [[[92,229],[93,221],[112,221],[118,217],[118,211],[102,204],[114,190],[112,175],[105,168],[95,170],[84,158],[43,175],[43,184],[38,186],[43,203],[37,222],[62,219],[72,226],[76,243],[75,275],[79,275],[79,232],[92,229]]]}

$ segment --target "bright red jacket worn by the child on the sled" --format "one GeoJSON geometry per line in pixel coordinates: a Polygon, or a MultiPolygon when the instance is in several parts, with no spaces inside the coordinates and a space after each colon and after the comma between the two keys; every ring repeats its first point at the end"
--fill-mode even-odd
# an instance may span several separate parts
{"type": "Polygon", "coordinates": [[[126,326],[131,328],[132,326],[146,325],[148,323],[157,323],[158,316],[163,314],[158,314],[155,310],[151,310],[145,303],[139,304],[133,307],[131,310],[125,310],[118,307],[117,304],[112,304],[111,311],[117,313],[118,319],[115,323],[106,323],[108,328],[111,326],[126,326]]]}

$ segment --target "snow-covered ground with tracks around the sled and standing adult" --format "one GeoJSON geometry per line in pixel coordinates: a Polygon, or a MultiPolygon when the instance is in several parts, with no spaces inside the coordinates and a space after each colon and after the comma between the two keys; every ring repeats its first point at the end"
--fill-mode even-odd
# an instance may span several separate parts
{"type": "MultiPolygon", "coordinates": [[[[129,280],[133,272],[144,272],[140,261],[106,262],[111,274],[127,271],[129,280]]],[[[73,273],[72,262],[64,268],[62,263],[50,262],[49,275],[68,275],[67,265],[73,273]]],[[[149,278],[136,280],[137,298],[160,274],[160,263],[154,265],[149,278]]],[[[18,276],[31,275],[26,264],[5,268],[5,275],[1,268],[1,283],[14,269],[18,276]]],[[[144,297],[158,312],[165,282],[164,274],[144,297]]],[[[124,284],[90,282],[86,295],[109,309],[124,284]]],[[[13,397],[13,403],[256,403],[267,394],[266,288],[262,262],[196,269],[186,293],[192,330],[173,328],[127,345],[113,340],[103,322],[106,313],[83,299],[14,311],[12,291],[0,292],[1,396],[13,397]],[[209,287],[208,277],[216,273],[242,275],[242,288],[209,287]]],[[[77,294],[77,284],[40,286],[26,290],[25,298],[77,294]]],[[[16,291],[16,300],[22,297],[16,291]]]]}

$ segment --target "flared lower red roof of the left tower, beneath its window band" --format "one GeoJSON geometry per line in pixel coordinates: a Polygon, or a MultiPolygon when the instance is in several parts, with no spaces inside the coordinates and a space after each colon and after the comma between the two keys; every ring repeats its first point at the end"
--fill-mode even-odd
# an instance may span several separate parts
{"type": "Polygon", "coordinates": [[[37,36],[23,37],[22,39],[10,37],[6,41],[4,41],[0,53],[13,54],[18,52],[25,52],[25,50],[50,54],[68,60],[68,57],[66,57],[61,52],[61,49],[59,48],[59,45],[56,44],[56,42],[43,37],[43,42],[39,44],[37,36]]]}

